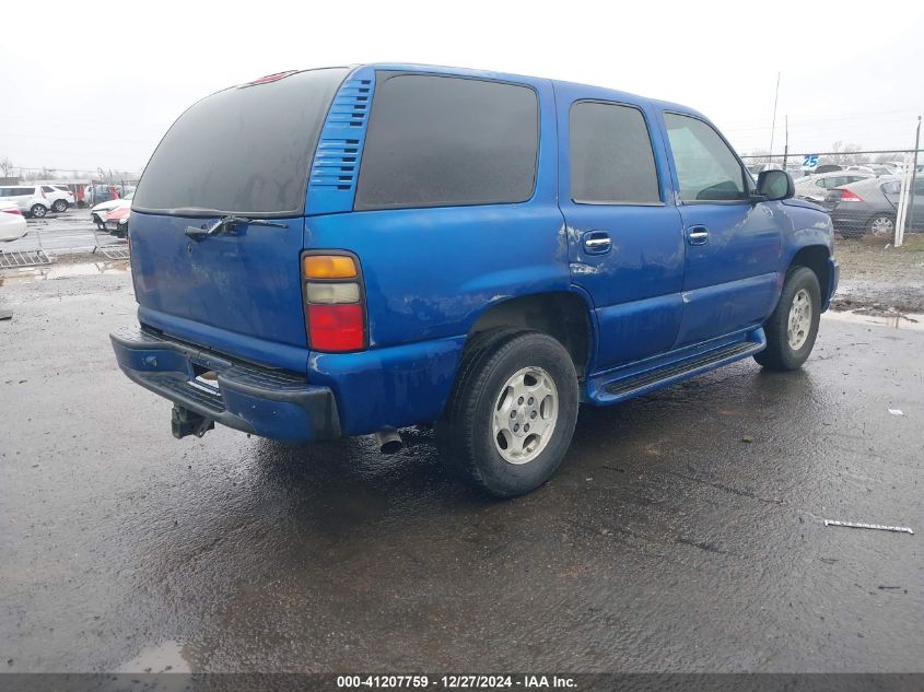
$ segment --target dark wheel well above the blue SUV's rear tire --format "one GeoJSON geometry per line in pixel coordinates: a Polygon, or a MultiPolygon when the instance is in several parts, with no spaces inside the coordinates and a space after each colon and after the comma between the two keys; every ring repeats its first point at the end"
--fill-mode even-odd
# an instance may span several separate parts
{"type": "Polygon", "coordinates": [[[468,338],[494,327],[521,327],[549,335],[568,350],[577,376],[584,377],[590,357],[590,320],[587,304],[577,294],[561,291],[503,301],[478,317],[468,338]]]}

